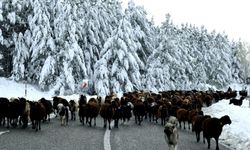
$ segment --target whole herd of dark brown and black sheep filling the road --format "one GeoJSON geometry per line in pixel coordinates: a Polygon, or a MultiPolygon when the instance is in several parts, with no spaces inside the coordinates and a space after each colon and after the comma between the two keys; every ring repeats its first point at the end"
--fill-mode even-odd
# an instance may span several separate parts
{"type": "Polygon", "coordinates": [[[85,125],[95,126],[96,118],[100,115],[104,120],[104,128],[111,129],[111,121],[118,128],[119,121],[126,122],[135,118],[135,123],[141,125],[143,120],[160,122],[165,126],[164,133],[168,145],[176,146],[178,134],[174,131],[179,128],[192,126],[196,134],[197,142],[200,141],[200,132],[203,131],[210,148],[210,139],[216,140],[216,150],[219,150],[218,139],[225,124],[230,124],[228,115],[221,118],[211,118],[202,112],[203,106],[210,106],[222,99],[229,103],[242,105],[247,97],[247,91],[235,91],[230,87],[227,91],[162,91],[159,93],[134,91],[127,92],[118,98],[112,93],[106,97],[87,98],[80,95],[78,100],[66,100],[55,96],[53,100],[41,98],[38,101],[30,101],[25,98],[0,97],[0,126],[26,128],[31,122],[32,129],[41,130],[41,122],[50,121],[50,114],[55,113],[60,118],[61,125],[67,125],[68,120],[76,120],[76,114],[80,122],[85,125]],[[239,95],[241,98],[236,99],[239,95]],[[70,117],[70,118],[69,118],[70,117]],[[93,120],[93,124],[92,124],[93,120]]]}

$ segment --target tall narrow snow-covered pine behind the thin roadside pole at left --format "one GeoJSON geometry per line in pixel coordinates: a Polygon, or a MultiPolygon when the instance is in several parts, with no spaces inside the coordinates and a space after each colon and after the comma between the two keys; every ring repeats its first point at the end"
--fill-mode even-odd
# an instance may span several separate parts
{"type": "MultiPolygon", "coordinates": [[[[26,76],[28,82],[38,84],[41,89],[48,89],[48,83],[54,79],[55,44],[50,27],[50,12],[44,0],[31,3],[33,12],[29,14],[29,30],[25,33],[29,56],[27,58],[26,76]],[[53,52],[54,50],[54,52],[53,52]],[[42,73],[41,73],[42,72],[42,73]],[[47,78],[47,79],[46,79],[47,78]]],[[[22,47],[19,47],[21,50],[22,47]]]]}

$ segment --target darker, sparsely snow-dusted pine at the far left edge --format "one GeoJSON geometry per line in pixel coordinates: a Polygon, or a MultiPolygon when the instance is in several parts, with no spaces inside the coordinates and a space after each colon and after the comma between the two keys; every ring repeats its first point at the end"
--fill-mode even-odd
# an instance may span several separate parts
{"type": "MultiPolygon", "coordinates": [[[[0,45],[4,76],[11,76],[13,63],[15,63],[13,61],[16,60],[13,58],[16,53],[13,37],[18,37],[19,33],[24,34],[27,30],[27,14],[30,13],[30,8],[29,1],[26,0],[2,0],[0,2],[0,45]]],[[[22,73],[19,75],[23,76],[22,73]]]]}

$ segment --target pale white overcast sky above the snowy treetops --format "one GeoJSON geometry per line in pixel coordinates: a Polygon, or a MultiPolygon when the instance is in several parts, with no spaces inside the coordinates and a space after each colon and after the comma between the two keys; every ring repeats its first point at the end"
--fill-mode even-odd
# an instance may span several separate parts
{"type": "MultiPolygon", "coordinates": [[[[127,4],[129,0],[121,0],[127,4]]],[[[169,13],[175,24],[204,25],[229,35],[230,39],[250,42],[250,0],[134,0],[143,5],[157,25],[169,13]]],[[[149,17],[151,18],[151,17],[149,17]]]]}

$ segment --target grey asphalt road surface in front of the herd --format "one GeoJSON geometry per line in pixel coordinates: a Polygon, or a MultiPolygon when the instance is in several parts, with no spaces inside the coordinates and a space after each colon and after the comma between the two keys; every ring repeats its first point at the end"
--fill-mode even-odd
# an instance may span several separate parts
{"type": "MultiPolygon", "coordinates": [[[[104,134],[103,120],[97,118],[97,126],[83,126],[79,120],[69,121],[68,126],[61,126],[58,118],[42,123],[41,131],[35,132],[29,126],[27,129],[0,127],[0,150],[103,150],[104,134]]],[[[197,143],[195,134],[189,130],[178,129],[179,150],[207,150],[207,144],[197,143]]],[[[107,141],[107,140],[106,140],[107,141]]],[[[166,150],[163,126],[144,121],[141,126],[134,120],[120,124],[110,132],[110,147],[112,150],[166,150]]],[[[211,149],[215,142],[211,141],[211,149]]],[[[220,145],[220,150],[229,150],[220,145]]]]}

